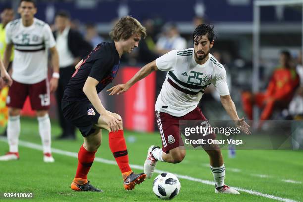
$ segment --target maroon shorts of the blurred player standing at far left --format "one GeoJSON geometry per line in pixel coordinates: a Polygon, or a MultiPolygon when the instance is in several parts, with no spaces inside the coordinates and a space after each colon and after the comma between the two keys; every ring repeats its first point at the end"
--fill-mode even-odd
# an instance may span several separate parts
{"type": "Polygon", "coordinates": [[[30,98],[32,110],[50,109],[50,90],[47,79],[35,84],[13,81],[8,91],[6,105],[22,109],[27,96],[30,98]]]}

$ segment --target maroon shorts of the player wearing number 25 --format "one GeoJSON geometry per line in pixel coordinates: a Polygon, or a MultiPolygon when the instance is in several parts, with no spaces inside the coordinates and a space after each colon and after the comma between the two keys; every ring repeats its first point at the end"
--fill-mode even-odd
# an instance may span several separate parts
{"type": "MultiPolygon", "coordinates": [[[[195,108],[193,111],[189,112],[188,114],[184,115],[184,116],[180,116],[180,117],[176,117],[176,116],[172,116],[168,113],[164,113],[164,112],[160,112],[160,111],[156,111],[156,116],[157,116],[157,122],[158,122],[158,127],[160,130],[160,134],[161,134],[161,139],[162,139],[162,150],[165,153],[168,153],[170,150],[179,147],[179,146],[184,146],[182,137],[181,137],[181,131],[183,127],[188,127],[190,125],[187,126],[181,126],[179,125],[179,121],[186,121],[186,120],[195,120],[197,121],[197,125],[201,123],[202,121],[207,121],[207,119],[205,118],[205,116],[202,114],[201,109],[197,106],[197,108],[195,108]]],[[[191,122],[191,124],[193,124],[192,126],[194,127],[195,124],[191,122]]],[[[209,123],[208,123],[209,125],[209,123]]],[[[191,127],[191,126],[190,126],[191,127]]],[[[189,138],[191,140],[198,140],[198,139],[215,139],[216,135],[214,133],[210,133],[206,136],[203,136],[201,134],[193,134],[190,135],[186,138],[189,138]]],[[[198,147],[198,146],[202,146],[204,147],[204,145],[202,144],[191,144],[193,147],[198,147]]]]}

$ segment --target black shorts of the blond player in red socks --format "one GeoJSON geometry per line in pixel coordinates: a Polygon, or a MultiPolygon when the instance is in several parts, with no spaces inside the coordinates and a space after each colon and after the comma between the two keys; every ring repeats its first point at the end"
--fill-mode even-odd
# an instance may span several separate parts
{"type": "Polygon", "coordinates": [[[100,114],[90,102],[62,102],[64,118],[79,128],[83,137],[94,133],[93,125],[98,123],[100,114]]]}

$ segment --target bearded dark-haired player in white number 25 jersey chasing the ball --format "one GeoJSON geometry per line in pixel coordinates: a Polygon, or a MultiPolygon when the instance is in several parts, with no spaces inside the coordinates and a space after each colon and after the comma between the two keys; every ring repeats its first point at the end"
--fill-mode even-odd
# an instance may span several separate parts
{"type": "MultiPolygon", "coordinates": [[[[201,24],[193,33],[194,48],[172,50],[155,61],[145,65],[127,83],[116,85],[108,91],[110,95],[127,91],[140,79],[153,71],[168,71],[161,92],[156,101],[156,116],[161,133],[162,148],[152,145],[144,163],[144,172],[152,177],[157,161],[179,163],[185,157],[181,141],[179,120],[206,120],[197,106],[204,89],[213,83],[220,94],[221,102],[235,125],[249,134],[249,125],[239,118],[226,83],[226,71],[210,53],[214,44],[213,25],[201,24]],[[180,140],[180,141],[179,141],[180,140]]],[[[203,136],[214,139],[215,134],[203,136]]],[[[201,137],[202,138],[202,137],[201,137]]],[[[210,158],[210,169],[214,176],[215,192],[239,194],[224,183],[225,166],[218,145],[205,149],[210,158]]]]}

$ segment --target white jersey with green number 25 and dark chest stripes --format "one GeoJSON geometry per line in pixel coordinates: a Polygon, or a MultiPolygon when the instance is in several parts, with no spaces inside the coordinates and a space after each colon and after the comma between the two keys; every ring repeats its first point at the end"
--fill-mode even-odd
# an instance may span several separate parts
{"type": "Polygon", "coordinates": [[[194,49],[172,50],[156,59],[161,71],[169,71],[155,109],[172,116],[184,116],[194,110],[211,83],[221,96],[229,95],[226,71],[213,55],[202,65],[194,58],[194,49]]]}

